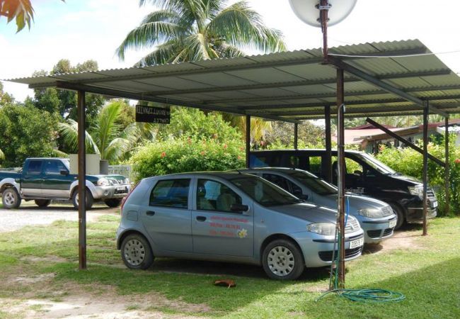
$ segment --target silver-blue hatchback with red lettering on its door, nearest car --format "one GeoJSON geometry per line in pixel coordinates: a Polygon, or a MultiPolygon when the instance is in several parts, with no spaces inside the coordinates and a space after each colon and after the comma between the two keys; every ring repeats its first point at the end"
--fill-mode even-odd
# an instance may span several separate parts
{"type": "MultiPolygon", "coordinates": [[[[143,179],[127,197],[117,248],[132,269],[178,257],[261,264],[272,279],[296,279],[331,263],[335,220],[333,209],[250,174],[171,174],[143,179]]],[[[348,217],[345,238],[345,260],[359,257],[356,218],[348,217]]]]}

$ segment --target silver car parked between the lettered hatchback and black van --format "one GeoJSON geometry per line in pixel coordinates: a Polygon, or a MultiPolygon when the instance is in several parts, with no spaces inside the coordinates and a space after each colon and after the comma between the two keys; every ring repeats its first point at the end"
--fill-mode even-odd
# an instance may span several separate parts
{"type": "MultiPolygon", "coordinates": [[[[302,169],[262,167],[240,169],[239,172],[267,179],[294,196],[316,205],[337,207],[337,187],[302,169]]],[[[345,211],[360,222],[364,230],[364,243],[375,244],[393,235],[398,218],[389,204],[375,198],[347,193],[345,211]]]]}

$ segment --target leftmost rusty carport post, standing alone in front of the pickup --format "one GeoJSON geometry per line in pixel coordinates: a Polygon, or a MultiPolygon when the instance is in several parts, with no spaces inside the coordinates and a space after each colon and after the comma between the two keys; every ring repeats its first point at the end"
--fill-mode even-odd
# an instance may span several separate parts
{"type": "Polygon", "coordinates": [[[86,269],[86,145],[85,145],[85,91],[78,91],[79,145],[79,269],[86,269]]]}

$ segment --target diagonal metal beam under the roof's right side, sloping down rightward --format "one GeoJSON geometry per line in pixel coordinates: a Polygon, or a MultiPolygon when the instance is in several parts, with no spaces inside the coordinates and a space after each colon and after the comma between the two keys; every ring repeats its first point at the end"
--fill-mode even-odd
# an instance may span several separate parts
{"type": "MultiPolygon", "coordinates": [[[[353,67],[352,65],[348,65],[347,63],[341,61],[340,59],[337,59],[336,57],[330,56],[328,57],[328,61],[332,63],[333,65],[335,65],[335,67],[343,69],[346,72],[355,75],[355,77],[359,77],[365,82],[378,86],[379,88],[384,89],[385,91],[389,91],[392,94],[401,96],[403,99],[411,101],[415,104],[418,104],[423,107],[427,107],[425,105],[425,102],[422,99],[418,99],[417,97],[412,96],[401,89],[398,89],[390,84],[387,84],[386,82],[382,82],[381,80],[376,79],[376,77],[373,77],[372,75],[367,74],[366,72],[363,72],[362,70],[357,69],[356,67],[353,67]]],[[[430,110],[441,116],[448,116],[447,113],[439,110],[435,106],[430,106],[430,110]]]]}

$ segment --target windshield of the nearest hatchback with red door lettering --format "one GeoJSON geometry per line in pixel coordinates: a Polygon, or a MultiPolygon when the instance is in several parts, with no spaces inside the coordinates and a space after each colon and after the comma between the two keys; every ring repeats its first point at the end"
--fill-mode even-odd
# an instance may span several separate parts
{"type": "Polygon", "coordinates": [[[282,206],[303,202],[260,177],[246,175],[231,179],[231,182],[262,206],[282,206]]]}

